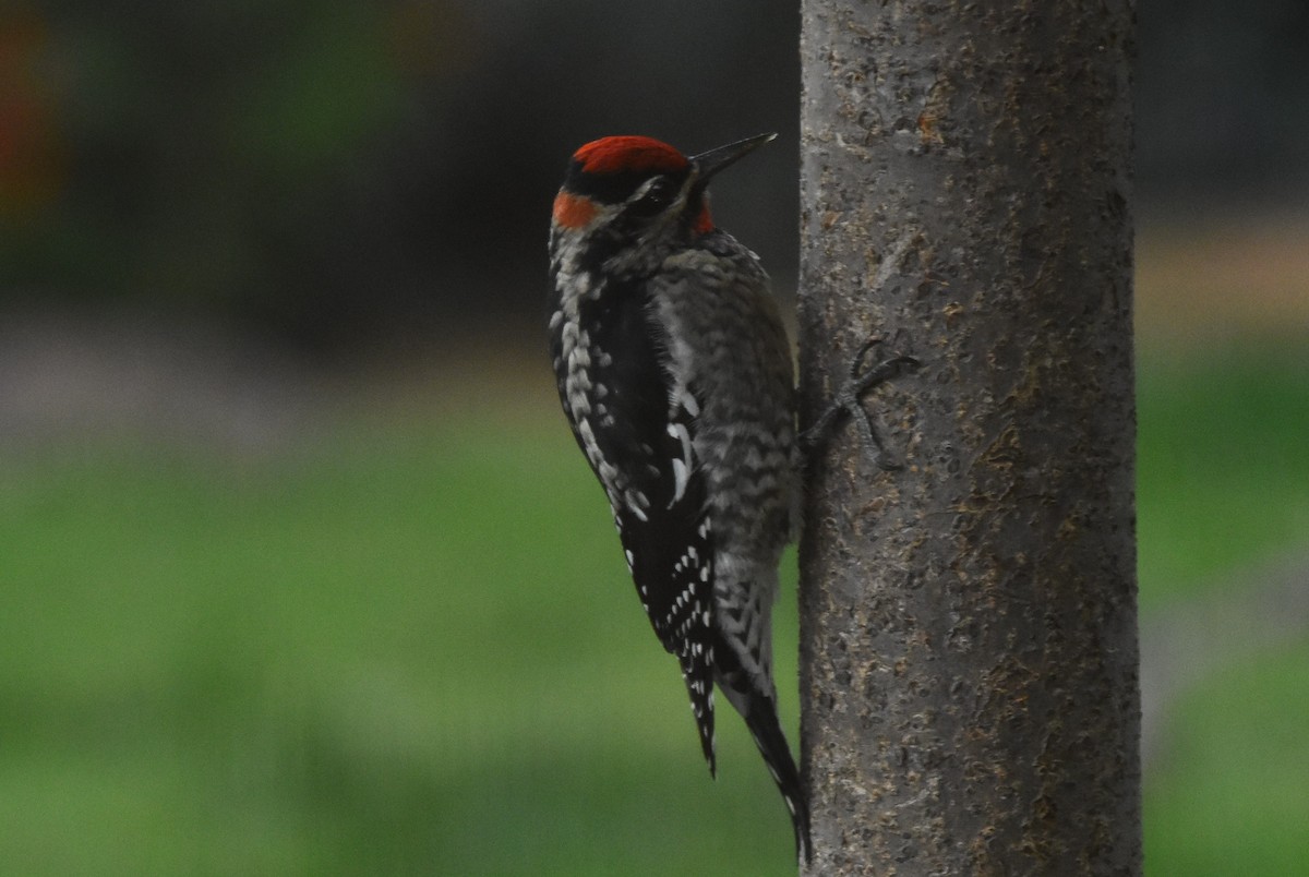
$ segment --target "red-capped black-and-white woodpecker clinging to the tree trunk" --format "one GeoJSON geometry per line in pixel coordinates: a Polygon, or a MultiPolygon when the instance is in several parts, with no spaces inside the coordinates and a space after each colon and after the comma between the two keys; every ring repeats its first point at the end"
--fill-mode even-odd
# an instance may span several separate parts
{"type": "MultiPolygon", "coordinates": [[[[709,774],[716,685],[754,736],[809,861],[809,809],[778,720],[771,613],[812,436],[797,436],[791,343],[768,276],[715,226],[706,191],[775,136],[691,157],[641,136],[577,149],[550,230],[550,352],[641,606],[681,665],[709,774]]],[[[819,431],[910,361],[860,376],[867,349],[819,431]]],[[[876,438],[870,421],[863,432],[876,438]]]]}

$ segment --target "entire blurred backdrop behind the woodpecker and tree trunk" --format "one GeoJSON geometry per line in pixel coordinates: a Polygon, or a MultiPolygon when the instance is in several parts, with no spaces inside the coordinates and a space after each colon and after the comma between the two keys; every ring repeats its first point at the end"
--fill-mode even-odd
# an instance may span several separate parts
{"type": "MultiPolygon", "coordinates": [[[[1139,14],[1148,870],[1309,873],[1309,5],[1139,14]]],[[[787,873],[749,741],[696,764],[542,312],[606,134],[780,132],[715,213],[792,298],[797,30],[0,5],[0,872],[787,873]]]]}

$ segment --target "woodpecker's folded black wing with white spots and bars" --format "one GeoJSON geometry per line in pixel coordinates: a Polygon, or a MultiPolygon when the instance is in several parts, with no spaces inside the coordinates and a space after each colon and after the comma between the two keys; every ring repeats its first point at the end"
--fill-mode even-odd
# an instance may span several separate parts
{"type": "Polygon", "coordinates": [[[699,403],[666,368],[639,285],[559,305],[551,352],[577,445],[609,496],[636,592],[677,656],[713,770],[713,533],[694,458],[699,403]],[[619,355],[619,352],[622,355],[619,355]]]}

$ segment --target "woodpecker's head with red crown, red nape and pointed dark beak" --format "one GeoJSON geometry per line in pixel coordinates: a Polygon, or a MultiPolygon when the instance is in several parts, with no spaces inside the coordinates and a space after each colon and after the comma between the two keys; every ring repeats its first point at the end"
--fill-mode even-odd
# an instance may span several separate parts
{"type": "Polygon", "coordinates": [[[747,137],[698,156],[652,137],[592,140],[568,164],[555,196],[552,238],[601,260],[627,260],[712,232],[709,179],[775,136],[747,137]]]}

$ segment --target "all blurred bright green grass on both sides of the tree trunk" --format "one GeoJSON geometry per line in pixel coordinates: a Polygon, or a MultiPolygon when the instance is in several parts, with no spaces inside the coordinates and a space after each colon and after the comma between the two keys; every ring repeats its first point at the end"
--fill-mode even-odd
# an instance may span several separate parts
{"type": "MultiPolygon", "coordinates": [[[[1309,373],[1289,348],[1143,374],[1160,611],[1309,531],[1309,373]]],[[[360,418],[258,459],[26,452],[0,558],[0,873],[793,873],[741,723],[709,781],[545,406],[360,418]]],[[[793,729],[793,573],[778,628],[793,729]]],[[[1304,657],[1187,702],[1151,874],[1302,863],[1304,657]]]]}

